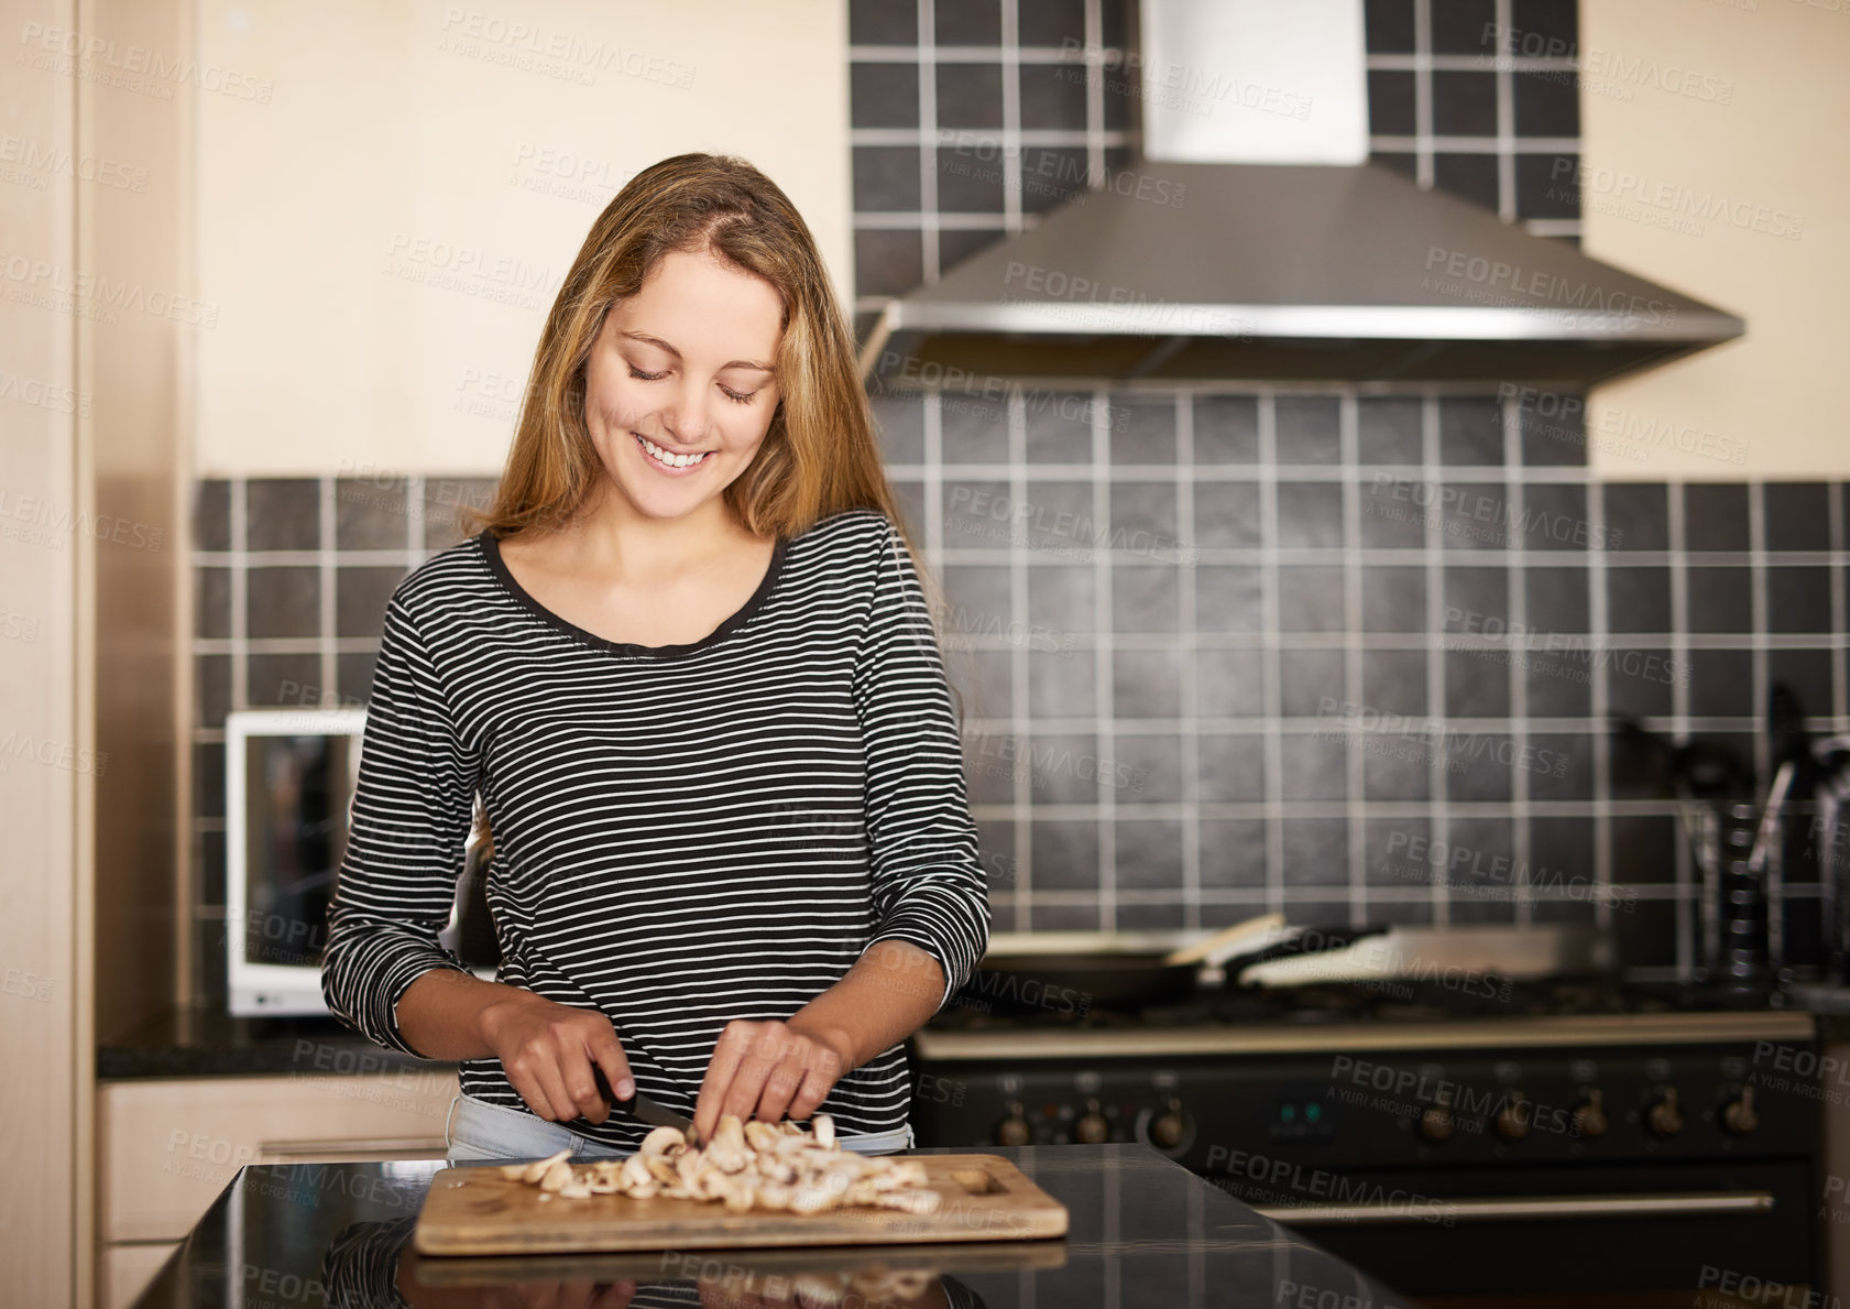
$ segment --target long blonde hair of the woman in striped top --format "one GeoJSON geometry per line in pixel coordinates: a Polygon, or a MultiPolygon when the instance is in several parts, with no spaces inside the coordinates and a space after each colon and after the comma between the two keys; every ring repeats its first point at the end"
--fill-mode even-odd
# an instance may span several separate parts
{"type": "MultiPolygon", "coordinates": [[[[753,535],[779,541],[845,509],[877,509],[938,613],[942,596],[886,480],[853,335],[816,239],[783,189],[734,156],[649,165],[598,215],[540,330],[500,487],[487,509],[464,509],[466,533],[559,528],[586,505],[607,476],[585,422],[585,368],[605,315],[642,291],[664,256],[703,250],[764,278],[783,302],[777,409],[751,465],[722,492],[727,509],[753,535]]],[[[955,687],[953,698],[962,713],[955,687]]],[[[487,839],[485,815],[475,831],[487,839]]]]}

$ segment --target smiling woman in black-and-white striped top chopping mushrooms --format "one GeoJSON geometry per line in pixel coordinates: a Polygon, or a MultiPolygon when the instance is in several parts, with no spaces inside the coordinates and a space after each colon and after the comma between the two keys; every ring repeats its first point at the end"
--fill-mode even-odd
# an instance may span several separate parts
{"type": "Polygon", "coordinates": [[[481,531],[385,613],[327,1007],[461,1061],[451,1159],[686,1113],[912,1144],[901,1042],[988,900],[931,611],[814,239],[751,165],[636,174],[540,335],[481,531]],[[501,946],[437,942],[472,798],[501,946]]]}

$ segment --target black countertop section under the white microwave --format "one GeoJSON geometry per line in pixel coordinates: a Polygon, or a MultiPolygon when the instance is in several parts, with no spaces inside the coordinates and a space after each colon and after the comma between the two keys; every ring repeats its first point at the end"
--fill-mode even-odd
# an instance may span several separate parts
{"type": "Polygon", "coordinates": [[[224,1009],[170,1009],[96,1048],[98,1078],[429,1072],[453,1066],[376,1046],[329,1015],[233,1018],[224,1009]]]}

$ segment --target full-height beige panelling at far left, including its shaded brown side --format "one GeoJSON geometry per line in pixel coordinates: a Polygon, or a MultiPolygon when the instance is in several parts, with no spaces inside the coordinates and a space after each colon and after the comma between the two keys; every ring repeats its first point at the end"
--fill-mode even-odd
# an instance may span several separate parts
{"type": "Polygon", "coordinates": [[[0,0],[4,1303],[91,1303],[98,1024],[172,998],[187,9],[0,0]]]}

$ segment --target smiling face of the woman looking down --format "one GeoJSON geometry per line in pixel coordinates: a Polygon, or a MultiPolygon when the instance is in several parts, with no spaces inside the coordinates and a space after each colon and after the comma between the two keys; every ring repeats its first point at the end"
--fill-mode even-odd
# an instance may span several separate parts
{"type": "Polygon", "coordinates": [[[742,474],[777,413],[777,289],[672,252],[610,305],[585,365],[585,424],[622,502],[681,518],[742,474]]]}

